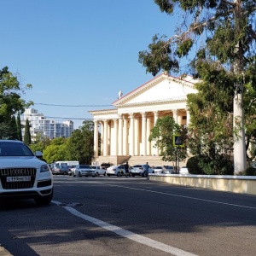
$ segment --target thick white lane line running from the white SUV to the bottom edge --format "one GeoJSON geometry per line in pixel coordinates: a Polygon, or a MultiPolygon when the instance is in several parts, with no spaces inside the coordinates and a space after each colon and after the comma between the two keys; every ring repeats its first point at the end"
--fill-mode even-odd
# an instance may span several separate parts
{"type": "MultiPolygon", "coordinates": [[[[59,202],[59,201],[51,201],[51,202],[55,203],[56,205],[61,205],[61,202],[59,202]]],[[[77,211],[73,207],[64,207],[64,208],[68,212],[71,212],[73,215],[75,215],[79,218],[83,218],[84,220],[89,221],[92,224],[96,224],[97,226],[100,226],[105,230],[109,230],[119,236],[123,236],[125,238],[131,239],[132,241],[137,241],[137,242],[142,243],[143,245],[146,245],[148,247],[154,247],[154,248],[164,251],[166,253],[172,253],[173,255],[176,255],[176,256],[197,256],[196,254],[183,251],[176,247],[168,246],[165,243],[162,243],[160,241],[155,241],[148,237],[137,235],[136,233],[133,233],[129,230],[124,230],[122,228],[119,228],[118,226],[114,226],[113,224],[108,224],[107,222],[104,222],[100,219],[90,217],[88,215],[85,215],[85,214],[77,211]]]]}

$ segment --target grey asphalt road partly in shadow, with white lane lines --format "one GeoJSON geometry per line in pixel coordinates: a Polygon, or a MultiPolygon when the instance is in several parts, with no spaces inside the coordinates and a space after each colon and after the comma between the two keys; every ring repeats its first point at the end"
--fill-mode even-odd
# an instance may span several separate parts
{"type": "Polygon", "coordinates": [[[54,181],[49,206],[33,201],[0,206],[0,243],[12,255],[256,254],[256,196],[144,177],[55,176],[54,181]]]}

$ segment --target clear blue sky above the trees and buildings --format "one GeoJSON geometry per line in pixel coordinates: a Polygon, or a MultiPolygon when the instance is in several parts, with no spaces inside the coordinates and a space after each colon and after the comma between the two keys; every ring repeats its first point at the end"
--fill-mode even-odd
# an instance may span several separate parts
{"type": "Polygon", "coordinates": [[[88,111],[110,108],[119,90],[152,79],[138,52],[177,26],[154,0],[2,0],[0,23],[0,68],[32,84],[23,96],[32,108],[75,128],[92,119],[88,111]]]}

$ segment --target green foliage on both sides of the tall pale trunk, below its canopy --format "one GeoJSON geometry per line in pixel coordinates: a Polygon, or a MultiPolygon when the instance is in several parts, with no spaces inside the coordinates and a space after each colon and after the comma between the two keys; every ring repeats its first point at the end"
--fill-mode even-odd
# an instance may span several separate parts
{"type": "MultiPolygon", "coordinates": [[[[223,171],[220,172],[230,172],[229,170],[233,170],[230,164],[233,147],[233,74],[219,66],[218,62],[201,61],[197,69],[203,82],[195,84],[197,94],[188,95],[188,108],[191,114],[188,139],[190,152],[201,157],[201,166],[206,168],[207,174],[220,174],[215,169],[216,166],[219,167],[221,159],[224,163],[221,166],[223,171]],[[205,162],[212,163],[212,171],[205,162]]],[[[253,83],[255,73],[251,71],[248,74],[250,77],[247,78],[244,93],[247,148],[256,136],[256,84],[253,83]]]]}

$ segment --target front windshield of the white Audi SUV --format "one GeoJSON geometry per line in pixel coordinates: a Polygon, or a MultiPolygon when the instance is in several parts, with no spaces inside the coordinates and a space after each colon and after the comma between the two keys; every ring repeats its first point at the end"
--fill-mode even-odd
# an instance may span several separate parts
{"type": "Polygon", "coordinates": [[[1,142],[0,156],[33,156],[26,144],[20,142],[1,142]]]}

